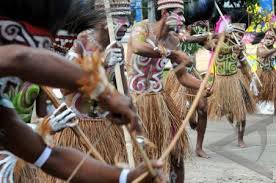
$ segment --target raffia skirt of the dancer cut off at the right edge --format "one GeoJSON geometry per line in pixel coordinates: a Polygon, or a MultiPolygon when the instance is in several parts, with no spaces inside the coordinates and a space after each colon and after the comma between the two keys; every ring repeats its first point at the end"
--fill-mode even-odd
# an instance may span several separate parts
{"type": "Polygon", "coordinates": [[[259,86],[258,101],[271,101],[276,103],[276,70],[265,71],[258,69],[258,76],[263,84],[263,87],[259,86]]]}

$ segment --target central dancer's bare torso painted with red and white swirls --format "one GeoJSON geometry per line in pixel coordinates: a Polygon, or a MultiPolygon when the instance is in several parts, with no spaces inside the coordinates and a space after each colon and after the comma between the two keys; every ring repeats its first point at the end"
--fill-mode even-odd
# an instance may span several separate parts
{"type": "MultiPolygon", "coordinates": [[[[175,50],[175,38],[169,33],[166,40],[157,42],[150,30],[147,21],[137,24],[131,36],[143,36],[141,39],[146,42],[153,42],[155,45],[162,44],[165,48],[175,50]]],[[[128,49],[128,85],[131,92],[160,92],[163,90],[163,71],[169,62],[167,58],[148,58],[137,55],[133,52],[131,43],[128,49]]]]}

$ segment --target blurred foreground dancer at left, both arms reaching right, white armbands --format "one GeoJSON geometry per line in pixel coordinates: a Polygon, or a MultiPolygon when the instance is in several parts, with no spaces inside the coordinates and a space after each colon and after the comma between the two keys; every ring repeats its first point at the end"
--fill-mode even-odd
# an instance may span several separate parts
{"type": "MultiPolygon", "coordinates": [[[[70,4],[71,1],[69,0],[1,1],[1,77],[15,76],[32,83],[62,87],[73,91],[82,90],[82,84],[79,81],[83,78],[90,81],[87,71],[67,63],[63,57],[50,51],[27,47],[48,43],[49,39],[44,36],[45,33],[49,30],[54,31],[54,25],[58,26],[58,22],[63,22],[63,17],[67,13],[70,4]],[[24,7],[24,11],[22,11],[22,7],[24,7]],[[20,21],[18,17],[24,21],[20,21]],[[41,31],[40,34],[34,34],[37,31],[41,31]]],[[[104,75],[99,77],[99,81],[95,81],[93,78],[91,84],[95,84],[94,87],[97,90],[92,90],[87,94],[98,99],[106,110],[109,109],[116,116],[122,116],[125,122],[137,124],[136,115],[130,107],[129,100],[112,90],[107,82],[103,82],[106,80],[104,75]],[[120,108],[117,106],[120,106],[120,108]]],[[[47,146],[39,135],[22,123],[11,101],[2,94],[0,97],[0,116],[2,119],[0,123],[1,149],[10,151],[17,157],[35,164],[53,176],[67,179],[84,157],[83,154],[72,149],[47,146]]],[[[17,168],[20,167],[17,167],[18,164],[14,155],[7,152],[2,154],[9,158],[1,161],[0,173],[3,173],[1,182],[13,182],[13,170],[18,170],[17,168]]],[[[153,166],[160,167],[160,164],[158,164],[154,163],[153,166]]],[[[143,172],[145,172],[145,166],[140,166],[132,171],[122,171],[119,168],[104,165],[88,158],[84,161],[72,182],[107,183],[120,180],[120,182],[126,183],[131,182],[143,172]]],[[[148,182],[151,182],[151,180],[149,179],[148,182]]]]}

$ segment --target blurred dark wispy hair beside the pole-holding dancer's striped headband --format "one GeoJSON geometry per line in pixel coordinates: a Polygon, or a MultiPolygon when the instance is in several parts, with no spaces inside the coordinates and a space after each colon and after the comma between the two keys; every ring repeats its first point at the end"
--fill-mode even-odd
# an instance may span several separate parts
{"type": "Polygon", "coordinates": [[[95,9],[95,1],[74,1],[65,19],[63,29],[73,34],[94,28],[105,19],[105,13],[95,9]]]}

